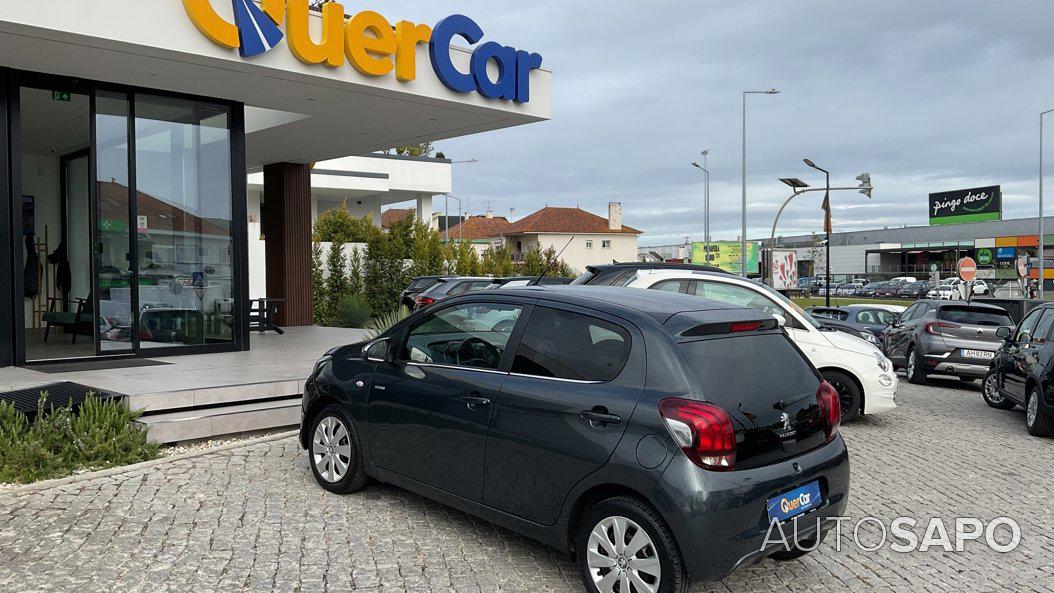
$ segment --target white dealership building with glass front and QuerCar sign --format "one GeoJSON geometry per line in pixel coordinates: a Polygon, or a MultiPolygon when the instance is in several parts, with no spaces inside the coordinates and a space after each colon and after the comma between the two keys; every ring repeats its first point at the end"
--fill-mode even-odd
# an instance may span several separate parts
{"type": "Polygon", "coordinates": [[[319,196],[354,178],[376,214],[430,216],[433,191],[408,193],[397,161],[314,163],[550,117],[542,56],[485,22],[345,11],[0,6],[0,365],[248,350],[250,222],[279,323],[310,324],[319,196]]]}

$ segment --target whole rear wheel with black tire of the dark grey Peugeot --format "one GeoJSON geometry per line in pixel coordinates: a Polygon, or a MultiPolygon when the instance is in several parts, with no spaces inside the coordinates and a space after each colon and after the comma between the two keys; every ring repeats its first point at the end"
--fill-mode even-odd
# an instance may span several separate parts
{"type": "Polygon", "coordinates": [[[655,509],[637,498],[618,496],[594,505],[582,517],[575,541],[579,574],[590,593],[611,593],[617,582],[620,591],[628,593],[633,578],[657,593],[688,590],[688,574],[672,532],[655,509]],[[617,526],[622,550],[617,549],[617,526]],[[627,556],[628,543],[633,543],[641,530],[644,543],[638,540],[639,549],[627,556]]]}

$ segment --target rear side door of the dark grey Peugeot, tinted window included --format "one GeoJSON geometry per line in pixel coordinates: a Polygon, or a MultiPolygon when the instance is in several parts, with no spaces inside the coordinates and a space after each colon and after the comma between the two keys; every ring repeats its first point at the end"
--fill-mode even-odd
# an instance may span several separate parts
{"type": "Polygon", "coordinates": [[[631,323],[539,302],[502,386],[486,447],[483,501],[542,525],[611,456],[644,389],[631,323]]]}

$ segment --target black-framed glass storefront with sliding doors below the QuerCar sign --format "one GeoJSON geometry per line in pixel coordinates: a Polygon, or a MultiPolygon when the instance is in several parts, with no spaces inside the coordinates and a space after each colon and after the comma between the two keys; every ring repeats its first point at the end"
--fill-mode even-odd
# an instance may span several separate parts
{"type": "Polygon", "coordinates": [[[0,231],[24,269],[7,359],[248,348],[241,106],[0,75],[19,131],[0,231]]]}

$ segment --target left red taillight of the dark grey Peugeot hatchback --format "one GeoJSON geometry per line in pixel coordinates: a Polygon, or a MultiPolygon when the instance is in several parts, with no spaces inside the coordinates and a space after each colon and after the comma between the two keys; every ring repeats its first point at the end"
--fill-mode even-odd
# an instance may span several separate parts
{"type": "Polygon", "coordinates": [[[721,408],[667,397],[659,402],[659,414],[692,463],[715,471],[730,470],[736,463],[736,431],[731,417],[721,408]]]}

